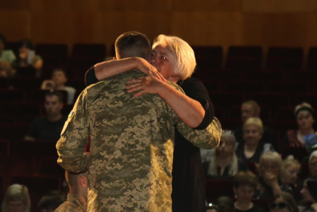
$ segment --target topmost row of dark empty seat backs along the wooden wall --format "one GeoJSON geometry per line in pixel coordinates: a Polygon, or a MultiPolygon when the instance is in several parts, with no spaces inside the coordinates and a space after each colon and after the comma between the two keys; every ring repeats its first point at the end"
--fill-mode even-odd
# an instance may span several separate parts
{"type": "MultiPolygon", "coordinates": [[[[6,48],[17,51],[18,43],[8,43],[6,48]]],[[[223,69],[223,48],[221,46],[192,46],[196,58],[198,68],[201,70],[221,70],[223,69]]],[[[77,64],[78,58],[101,58],[106,55],[105,44],[74,44],[71,56],[68,57],[68,46],[66,44],[37,44],[36,53],[45,59],[65,59],[72,63],[75,60],[77,64]]],[[[114,46],[111,46],[111,55],[114,56],[114,46]]],[[[301,69],[303,65],[304,51],[301,47],[270,47],[265,62],[266,69],[301,69]]],[[[245,70],[262,68],[263,50],[260,46],[231,46],[228,50],[226,58],[226,70],[245,70]]],[[[45,62],[45,60],[44,60],[45,62]]],[[[57,60],[52,61],[55,63],[57,60]]],[[[47,63],[50,63],[47,61],[47,63]]],[[[61,63],[61,62],[59,62],[61,63]]],[[[58,63],[57,63],[58,64],[58,63]]],[[[317,47],[311,47],[307,57],[307,69],[317,69],[317,47]]]]}

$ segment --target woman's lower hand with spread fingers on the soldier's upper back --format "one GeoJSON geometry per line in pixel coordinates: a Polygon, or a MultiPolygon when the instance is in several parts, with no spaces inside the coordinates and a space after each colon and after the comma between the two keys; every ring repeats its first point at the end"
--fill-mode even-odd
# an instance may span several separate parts
{"type": "Polygon", "coordinates": [[[141,77],[138,79],[132,79],[129,81],[129,85],[126,86],[128,93],[138,91],[134,94],[134,97],[139,97],[144,93],[157,94],[164,87],[164,82],[156,77],[141,77]]]}

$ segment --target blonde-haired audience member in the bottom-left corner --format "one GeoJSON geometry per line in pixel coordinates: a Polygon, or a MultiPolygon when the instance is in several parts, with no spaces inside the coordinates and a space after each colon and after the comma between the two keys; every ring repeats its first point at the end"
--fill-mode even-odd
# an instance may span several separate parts
{"type": "Polygon", "coordinates": [[[31,202],[29,190],[26,186],[12,184],[4,194],[1,211],[2,212],[29,212],[31,202]]]}

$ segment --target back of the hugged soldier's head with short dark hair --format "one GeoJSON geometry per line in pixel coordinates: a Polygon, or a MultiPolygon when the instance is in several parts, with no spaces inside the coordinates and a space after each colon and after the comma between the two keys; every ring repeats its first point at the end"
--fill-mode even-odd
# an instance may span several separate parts
{"type": "Polygon", "coordinates": [[[117,59],[127,57],[141,57],[148,59],[151,52],[151,43],[145,34],[126,32],[121,34],[115,44],[117,59]]]}

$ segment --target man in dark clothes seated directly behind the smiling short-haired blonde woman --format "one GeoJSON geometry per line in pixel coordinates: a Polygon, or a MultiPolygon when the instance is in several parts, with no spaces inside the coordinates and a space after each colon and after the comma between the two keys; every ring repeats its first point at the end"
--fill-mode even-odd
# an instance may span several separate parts
{"type": "MultiPolygon", "coordinates": [[[[242,125],[248,118],[251,117],[260,117],[261,108],[259,104],[254,100],[248,100],[242,103],[241,105],[241,121],[242,125]]],[[[239,127],[235,129],[236,140],[240,143],[243,141],[243,127],[239,127]]],[[[262,143],[271,143],[273,147],[275,147],[275,133],[274,130],[264,126],[263,127],[263,135],[260,140],[262,143]]]]}

